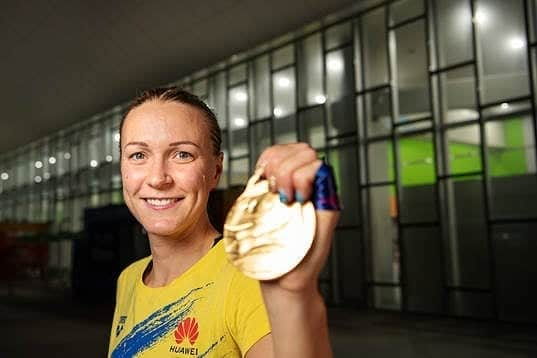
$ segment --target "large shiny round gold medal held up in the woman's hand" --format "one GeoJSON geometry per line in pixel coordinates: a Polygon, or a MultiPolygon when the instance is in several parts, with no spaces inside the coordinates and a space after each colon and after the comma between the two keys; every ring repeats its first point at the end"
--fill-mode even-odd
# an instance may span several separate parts
{"type": "Polygon", "coordinates": [[[272,280],[295,268],[306,256],[315,235],[311,202],[280,202],[258,168],[237,198],[224,224],[230,261],[246,276],[272,280]]]}

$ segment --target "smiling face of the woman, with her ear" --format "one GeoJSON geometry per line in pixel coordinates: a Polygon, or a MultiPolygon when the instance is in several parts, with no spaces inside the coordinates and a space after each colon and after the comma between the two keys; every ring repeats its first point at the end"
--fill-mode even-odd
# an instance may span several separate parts
{"type": "Polygon", "coordinates": [[[209,192],[222,172],[204,113],[153,100],[134,108],[121,133],[125,203],[149,234],[202,228],[209,192]]]}

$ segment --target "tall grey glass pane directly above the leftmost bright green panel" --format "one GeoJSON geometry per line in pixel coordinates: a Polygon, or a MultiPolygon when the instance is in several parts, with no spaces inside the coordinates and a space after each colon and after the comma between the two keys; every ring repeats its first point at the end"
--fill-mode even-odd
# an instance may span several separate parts
{"type": "Polygon", "coordinates": [[[425,24],[417,21],[395,30],[397,86],[401,118],[430,116],[425,24]]]}

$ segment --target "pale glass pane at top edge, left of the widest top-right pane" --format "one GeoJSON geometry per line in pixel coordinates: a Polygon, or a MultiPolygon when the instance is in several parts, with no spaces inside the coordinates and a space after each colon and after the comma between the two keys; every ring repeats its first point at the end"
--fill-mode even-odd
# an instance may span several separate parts
{"type": "Polygon", "coordinates": [[[438,63],[446,67],[471,60],[472,13],[468,0],[436,0],[438,63]]]}

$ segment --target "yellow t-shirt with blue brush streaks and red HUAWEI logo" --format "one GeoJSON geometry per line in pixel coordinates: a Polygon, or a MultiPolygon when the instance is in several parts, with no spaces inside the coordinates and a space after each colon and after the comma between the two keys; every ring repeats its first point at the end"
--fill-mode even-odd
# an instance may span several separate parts
{"type": "Polygon", "coordinates": [[[150,260],[119,276],[109,357],[241,357],[270,333],[259,283],[228,262],[222,241],[165,287],[143,283],[150,260]]]}

